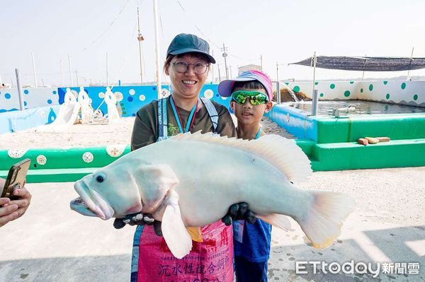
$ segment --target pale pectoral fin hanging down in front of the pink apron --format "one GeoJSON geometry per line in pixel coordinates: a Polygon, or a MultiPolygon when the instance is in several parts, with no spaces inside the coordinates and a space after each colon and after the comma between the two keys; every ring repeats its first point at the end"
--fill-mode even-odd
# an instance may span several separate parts
{"type": "Polygon", "coordinates": [[[192,239],[181,219],[179,194],[169,192],[164,215],[162,216],[162,235],[174,257],[181,259],[192,249],[192,239]]]}

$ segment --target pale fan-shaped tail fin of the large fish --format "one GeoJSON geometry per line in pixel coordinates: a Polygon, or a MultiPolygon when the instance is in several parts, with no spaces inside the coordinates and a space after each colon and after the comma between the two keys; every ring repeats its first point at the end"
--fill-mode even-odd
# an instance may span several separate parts
{"type": "Polygon", "coordinates": [[[313,201],[298,221],[313,247],[328,247],[341,233],[341,225],[353,210],[350,196],[336,192],[312,192],[313,201]]]}

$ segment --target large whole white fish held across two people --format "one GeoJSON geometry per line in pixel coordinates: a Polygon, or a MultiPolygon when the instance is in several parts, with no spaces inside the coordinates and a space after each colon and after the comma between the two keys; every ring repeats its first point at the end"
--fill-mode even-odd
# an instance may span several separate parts
{"type": "Polygon", "coordinates": [[[322,248],[339,236],[353,201],[344,194],[297,189],[290,183],[305,180],[311,172],[307,156],[281,136],[246,141],[179,134],[75,182],[81,198],[71,208],[103,220],[151,213],[162,221],[169,249],[181,258],[192,248],[186,227],[218,221],[229,206],[246,201],[257,217],[279,228],[288,228],[286,216],[292,217],[312,245],[322,248]]]}

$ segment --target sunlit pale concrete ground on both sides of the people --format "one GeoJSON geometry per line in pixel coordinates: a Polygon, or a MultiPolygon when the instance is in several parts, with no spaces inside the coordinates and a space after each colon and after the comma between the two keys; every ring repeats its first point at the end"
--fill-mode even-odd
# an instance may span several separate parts
{"type": "MultiPolygon", "coordinates": [[[[418,156],[419,157],[419,156],[418,156]]],[[[133,228],[69,209],[72,183],[27,184],[27,213],[0,228],[0,281],[128,281],[133,228]]],[[[425,281],[425,167],[314,172],[307,189],[344,192],[356,200],[341,237],[319,250],[306,244],[296,223],[273,228],[269,281],[425,281]],[[295,262],[419,263],[419,274],[297,274],[295,262]]],[[[403,266],[400,264],[400,266],[403,266]]],[[[329,270],[329,269],[325,269],[329,270]]],[[[360,272],[362,269],[359,268],[360,272]]],[[[411,270],[412,271],[412,270],[411,270]]],[[[390,272],[390,271],[388,271],[390,272]]]]}

